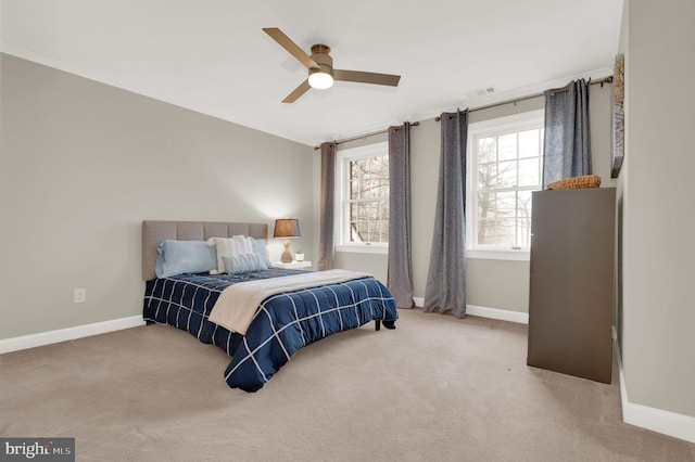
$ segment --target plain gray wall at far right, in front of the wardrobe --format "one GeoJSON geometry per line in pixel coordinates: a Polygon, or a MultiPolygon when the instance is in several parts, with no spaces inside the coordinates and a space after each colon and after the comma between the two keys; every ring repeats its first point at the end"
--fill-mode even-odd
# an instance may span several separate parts
{"type": "Polygon", "coordinates": [[[630,402],[695,416],[695,2],[626,1],[621,345],[630,402]]]}

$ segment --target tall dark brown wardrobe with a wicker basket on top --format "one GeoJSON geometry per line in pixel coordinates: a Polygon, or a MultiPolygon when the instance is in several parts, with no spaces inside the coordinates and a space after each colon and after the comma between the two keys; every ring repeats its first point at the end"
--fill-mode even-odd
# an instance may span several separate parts
{"type": "Polygon", "coordinates": [[[536,191],[527,364],[610,383],[614,188],[536,191]]]}

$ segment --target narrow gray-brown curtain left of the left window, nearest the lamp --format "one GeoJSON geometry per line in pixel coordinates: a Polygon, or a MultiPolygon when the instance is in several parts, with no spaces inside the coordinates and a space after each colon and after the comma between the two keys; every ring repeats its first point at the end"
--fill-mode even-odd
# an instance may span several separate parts
{"type": "Polygon", "coordinates": [[[319,271],[333,267],[333,217],[336,209],[336,143],[321,143],[321,209],[318,234],[319,271]]]}

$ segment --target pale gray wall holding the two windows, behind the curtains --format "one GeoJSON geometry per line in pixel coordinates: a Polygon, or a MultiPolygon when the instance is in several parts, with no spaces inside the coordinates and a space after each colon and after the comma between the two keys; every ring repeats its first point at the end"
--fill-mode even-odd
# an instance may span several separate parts
{"type": "MultiPolygon", "coordinates": [[[[610,179],[610,85],[591,87],[591,124],[594,172],[602,177],[603,187],[615,187],[610,179]]],[[[470,123],[504,117],[543,108],[544,98],[539,97],[517,104],[475,111],[470,123]]],[[[380,134],[339,149],[355,147],[386,140],[380,134]]],[[[410,131],[412,214],[413,214],[413,279],[415,297],[425,297],[427,271],[437,204],[439,159],[441,150],[440,125],[434,119],[420,120],[410,131]]],[[[320,156],[315,157],[315,178],[320,156]]],[[[317,180],[318,181],[318,180],[317,180]]],[[[318,191],[318,190],[316,190],[318,191]]],[[[318,203],[318,202],[317,202],[318,203]]],[[[336,266],[345,269],[370,271],[386,281],[388,264],[386,255],[337,254],[336,266]]],[[[469,258],[467,260],[467,303],[485,308],[509,311],[529,311],[529,262],[469,258]]]]}

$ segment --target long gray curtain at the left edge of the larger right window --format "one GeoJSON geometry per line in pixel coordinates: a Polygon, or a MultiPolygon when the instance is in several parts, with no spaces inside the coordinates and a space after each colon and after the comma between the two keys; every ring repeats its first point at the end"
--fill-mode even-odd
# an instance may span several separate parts
{"type": "Polygon", "coordinates": [[[466,142],[468,111],[444,113],[442,155],[425,311],[466,316],[466,142]]]}

